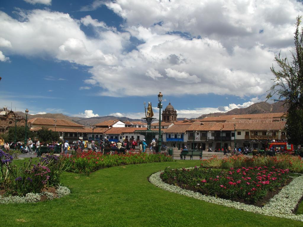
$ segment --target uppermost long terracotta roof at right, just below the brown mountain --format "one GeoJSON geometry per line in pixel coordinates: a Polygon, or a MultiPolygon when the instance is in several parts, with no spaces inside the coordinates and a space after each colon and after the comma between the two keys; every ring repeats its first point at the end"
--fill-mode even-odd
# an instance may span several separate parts
{"type": "Polygon", "coordinates": [[[256,114],[238,114],[221,115],[218,117],[205,117],[201,121],[226,121],[231,119],[273,119],[281,118],[285,113],[256,113],[256,114]]]}

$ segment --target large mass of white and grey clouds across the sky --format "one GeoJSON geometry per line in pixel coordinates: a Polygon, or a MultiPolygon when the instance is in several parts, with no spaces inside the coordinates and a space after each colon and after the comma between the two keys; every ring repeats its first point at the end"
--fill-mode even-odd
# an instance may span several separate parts
{"type": "Polygon", "coordinates": [[[152,95],[155,91],[143,86],[148,84],[163,94],[257,100],[272,84],[274,53],[292,50],[293,24],[303,14],[302,3],[295,0],[116,0],[95,1],[81,10],[102,5],[124,19],[122,31],[90,15],[76,20],[48,9],[19,9],[16,19],[0,11],[0,61],[13,54],[47,54],[90,66],[85,82],[102,87],[99,95],[152,95]],[[80,26],[92,27],[96,35],[88,37],[80,26]],[[131,38],[140,44],[127,51],[131,38]],[[123,81],[122,89],[113,81],[123,81]]]}

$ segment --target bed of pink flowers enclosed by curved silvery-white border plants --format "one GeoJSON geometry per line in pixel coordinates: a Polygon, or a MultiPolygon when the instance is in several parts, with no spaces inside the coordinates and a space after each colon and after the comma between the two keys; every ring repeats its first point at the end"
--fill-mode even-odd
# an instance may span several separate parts
{"type": "Polygon", "coordinates": [[[288,169],[263,167],[231,168],[220,173],[212,169],[169,169],[161,173],[164,182],[223,199],[255,203],[269,191],[285,186],[288,169]]]}

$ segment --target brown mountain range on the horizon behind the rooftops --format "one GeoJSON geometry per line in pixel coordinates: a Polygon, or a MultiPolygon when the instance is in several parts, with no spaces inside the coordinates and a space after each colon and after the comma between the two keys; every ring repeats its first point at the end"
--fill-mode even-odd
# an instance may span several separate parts
{"type": "MultiPolygon", "coordinates": [[[[251,106],[246,107],[246,108],[235,108],[226,113],[203,114],[200,117],[198,117],[198,119],[203,119],[205,117],[215,117],[215,116],[220,116],[220,115],[234,115],[234,114],[237,115],[237,114],[281,113],[281,112],[285,113],[287,111],[287,107],[286,107],[286,105],[283,105],[283,104],[284,104],[283,101],[275,102],[273,104],[270,104],[267,102],[259,102],[259,103],[254,103],[251,106]]],[[[18,111],[16,113],[25,118],[24,112],[18,111]]],[[[35,115],[28,114],[28,119],[32,119],[35,117],[70,120],[75,123],[84,125],[86,127],[89,126],[90,124],[97,124],[97,123],[100,123],[105,120],[115,120],[115,119],[120,119],[122,121],[140,121],[140,120],[142,120],[142,119],[131,119],[128,117],[115,117],[115,116],[90,117],[90,118],[70,117],[70,116],[66,116],[62,113],[45,113],[45,114],[35,114],[35,115]]],[[[184,120],[184,118],[178,118],[178,120],[184,120]]]]}

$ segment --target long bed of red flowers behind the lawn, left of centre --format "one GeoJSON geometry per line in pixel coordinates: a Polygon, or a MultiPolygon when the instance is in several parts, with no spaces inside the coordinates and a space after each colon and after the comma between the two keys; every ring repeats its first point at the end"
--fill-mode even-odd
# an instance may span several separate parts
{"type": "Polygon", "coordinates": [[[70,165],[69,172],[89,174],[105,167],[173,161],[172,157],[165,154],[138,154],[129,152],[127,154],[108,154],[88,151],[77,153],[76,156],[65,156],[63,161],[70,165]]]}

